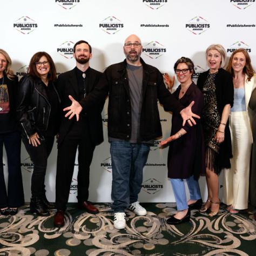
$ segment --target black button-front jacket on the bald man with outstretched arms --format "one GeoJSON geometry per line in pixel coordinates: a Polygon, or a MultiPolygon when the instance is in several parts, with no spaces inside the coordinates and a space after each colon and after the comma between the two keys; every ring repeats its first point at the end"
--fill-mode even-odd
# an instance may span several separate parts
{"type": "MultiPolygon", "coordinates": [[[[140,139],[142,141],[162,136],[158,100],[166,111],[179,113],[184,107],[166,89],[163,76],[154,66],[143,65],[142,110],[140,116],[140,139]]],[[[108,133],[109,137],[130,140],[131,98],[126,60],[109,66],[95,90],[79,103],[86,108],[93,107],[100,98],[109,95],[108,133]]]]}

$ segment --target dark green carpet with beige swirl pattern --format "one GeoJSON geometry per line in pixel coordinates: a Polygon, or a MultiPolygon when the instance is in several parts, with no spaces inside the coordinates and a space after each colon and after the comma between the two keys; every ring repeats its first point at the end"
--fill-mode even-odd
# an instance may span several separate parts
{"type": "Polygon", "coordinates": [[[165,219],[176,211],[175,204],[142,205],[147,215],[127,211],[124,230],[113,227],[109,204],[97,204],[97,215],[69,204],[62,228],[53,227],[53,215],[36,217],[25,205],[14,217],[0,216],[0,255],[256,255],[252,214],[223,208],[210,218],[195,210],[189,223],[170,226],[165,219]]]}

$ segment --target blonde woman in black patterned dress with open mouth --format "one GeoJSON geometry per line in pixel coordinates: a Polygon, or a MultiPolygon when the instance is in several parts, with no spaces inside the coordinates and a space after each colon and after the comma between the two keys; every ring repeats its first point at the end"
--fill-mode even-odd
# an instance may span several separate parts
{"type": "Polygon", "coordinates": [[[233,106],[233,80],[223,69],[226,52],[222,45],[212,44],[206,50],[209,70],[200,74],[197,85],[204,94],[204,107],[201,114],[205,138],[206,183],[208,198],[200,212],[209,208],[210,217],[217,215],[220,207],[219,174],[230,168],[232,157],[231,136],[228,127],[228,114],[233,106]]]}

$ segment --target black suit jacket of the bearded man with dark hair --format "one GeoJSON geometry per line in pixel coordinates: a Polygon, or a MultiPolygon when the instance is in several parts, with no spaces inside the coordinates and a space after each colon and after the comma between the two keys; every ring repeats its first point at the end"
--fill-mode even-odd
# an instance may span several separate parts
{"type": "MultiPolygon", "coordinates": [[[[93,90],[95,85],[99,82],[99,79],[102,77],[102,73],[90,68],[90,78],[88,88],[86,87],[87,95],[93,90]]],[[[57,90],[60,96],[61,101],[61,121],[60,121],[60,129],[59,129],[59,140],[58,145],[60,145],[66,134],[71,128],[73,122],[76,121],[76,117],[73,117],[71,120],[69,118],[65,118],[65,113],[63,109],[71,105],[71,100],[69,99],[69,95],[71,95],[74,99],[79,101],[79,91],[78,91],[78,83],[76,77],[75,69],[72,69],[68,72],[62,73],[59,75],[57,80],[57,90]]],[[[103,126],[102,126],[102,110],[105,103],[105,99],[100,101],[89,111],[86,109],[83,112],[86,113],[88,122],[89,122],[89,132],[92,141],[98,145],[103,142],[103,126]]]]}

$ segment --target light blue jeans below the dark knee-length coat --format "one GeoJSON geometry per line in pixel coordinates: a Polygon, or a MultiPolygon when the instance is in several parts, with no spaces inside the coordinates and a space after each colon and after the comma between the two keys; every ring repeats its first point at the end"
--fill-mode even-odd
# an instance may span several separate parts
{"type": "MultiPolygon", "coordinates": [[[[197,180],[194,180],[194,177],[186,179],[188,190],[190,191],[190,199],[198,200],[201,198],[200,187],[197,180]]],[[[177,210],[183,211],[188,209],[187,198],[186,198],[186,190],[184,179],[171,179],[172,189],[174,193],[174,197],[177,204],[177,210]]]]}

